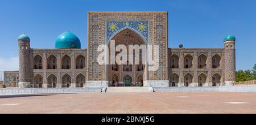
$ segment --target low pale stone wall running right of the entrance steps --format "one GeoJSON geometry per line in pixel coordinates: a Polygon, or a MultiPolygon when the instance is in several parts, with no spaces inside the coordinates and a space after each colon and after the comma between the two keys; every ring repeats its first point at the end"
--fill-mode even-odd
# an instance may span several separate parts
{"type": "Polygon", "coordinates": [[[155,92],[256,92],[256,85],[220,86],[220,87],[159,87],[155,92]]]}

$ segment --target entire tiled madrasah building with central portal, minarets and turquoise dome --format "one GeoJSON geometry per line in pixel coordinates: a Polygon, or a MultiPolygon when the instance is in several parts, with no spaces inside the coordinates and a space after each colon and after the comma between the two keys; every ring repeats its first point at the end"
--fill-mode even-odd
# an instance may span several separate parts
{"type": "MultiPolygon", "coordinates": [[[[76,88],[119,86],[209,87],[233,85],[236,73],[234,36],[223,48],[168,48],[168,12],[88,12],[88,49],[72,32],[61,33],[55,49],[31,48],[18,37],[19,71],[4,72],[5,87],[76,88]],[[159,68],[147,64],[100,65],[99,45],[159,45],[159,68]]],[[[154,53],[153,50],[152,53],[154,53]]]]}

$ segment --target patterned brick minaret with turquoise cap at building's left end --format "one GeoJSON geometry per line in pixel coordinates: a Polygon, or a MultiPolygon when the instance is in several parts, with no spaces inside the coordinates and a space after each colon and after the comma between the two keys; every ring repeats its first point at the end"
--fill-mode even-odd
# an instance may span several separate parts
{"type": "Polygon", "coordinates": [[[30,87],[30,37],[25,33],[18,37],[19,45],[19,88],[30,87]]]}

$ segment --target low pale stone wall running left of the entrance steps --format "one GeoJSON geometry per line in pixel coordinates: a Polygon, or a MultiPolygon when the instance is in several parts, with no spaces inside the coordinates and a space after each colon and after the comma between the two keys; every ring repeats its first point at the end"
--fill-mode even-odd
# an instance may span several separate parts
{"type": "Polygon", "coordinates": [[[101,92],[102,88],[3,88],[2,95],[101,92]]]}

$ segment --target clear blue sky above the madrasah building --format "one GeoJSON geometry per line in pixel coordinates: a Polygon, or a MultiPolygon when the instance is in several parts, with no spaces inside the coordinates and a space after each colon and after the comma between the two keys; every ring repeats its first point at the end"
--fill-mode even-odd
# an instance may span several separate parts
{"type": "Polygon", "coordinates": [[[223,38],[234,35],[237,70],[256,63],[256,1],[75,1],[1,0],[0,71],[18,69],[17,37],[25,32],[31,48],[54,48],[60,33],[75,33],[86,45],[87,11],[168,11],[169,47],[222,48],[223,38]]]}

